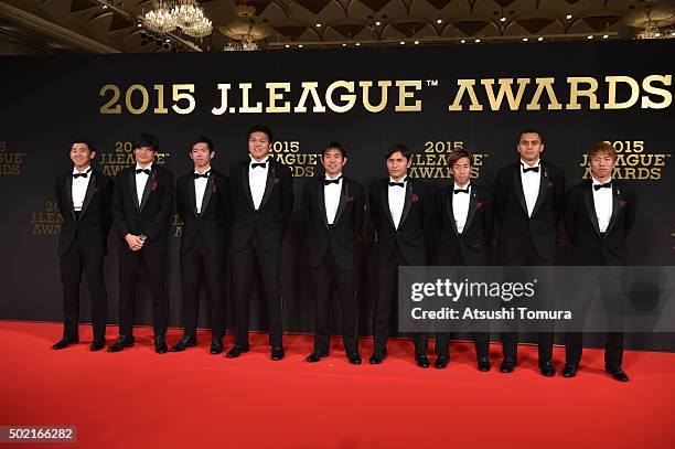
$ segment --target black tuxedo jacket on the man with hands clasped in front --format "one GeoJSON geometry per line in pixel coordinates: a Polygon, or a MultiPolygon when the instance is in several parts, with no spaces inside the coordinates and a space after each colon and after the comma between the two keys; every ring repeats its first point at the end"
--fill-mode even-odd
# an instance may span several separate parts
{"type": "MultiPolygon", "coordinates": [[[[173,209],[173,174],[152,164],[148,182],[138,205],[136,164],[121,170],[115,179],[113,216],[124,240],[125,235],[144,234],[143,250],[165,252],[169,248],[169,225],[173,209]]],[[[127,243],[122,242],[124,247],[127,243]]]]}

